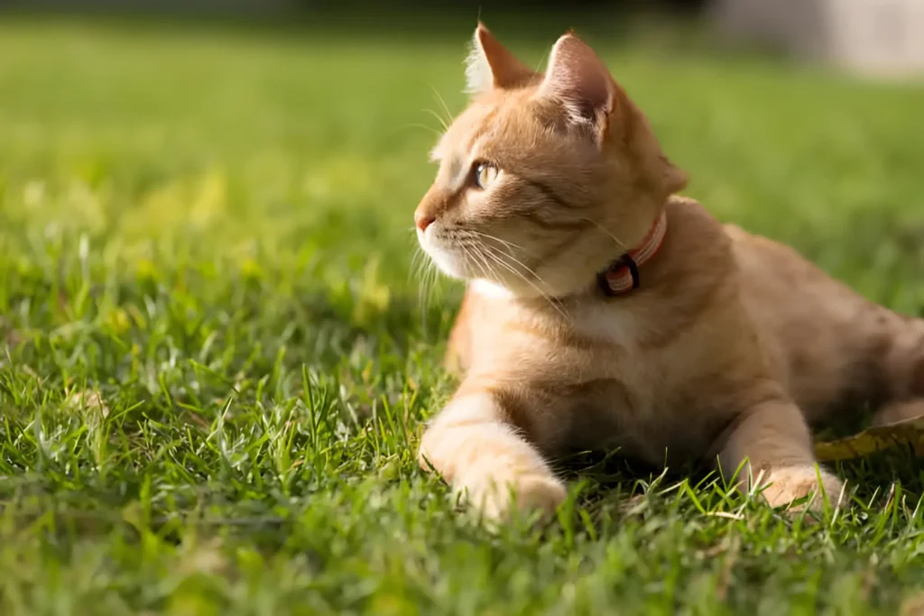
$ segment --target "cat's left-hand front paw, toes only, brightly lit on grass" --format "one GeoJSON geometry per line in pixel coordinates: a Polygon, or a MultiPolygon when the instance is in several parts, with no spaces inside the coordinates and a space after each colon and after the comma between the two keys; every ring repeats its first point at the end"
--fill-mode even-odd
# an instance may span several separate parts
{"type": "Polygon", "coordinates": [[[550,516],[567,498],[565,485],[545,473],[467,477],[457,491],[463,501],[492,522],[504,522],[515,511],[540,511],[550,516]]]}

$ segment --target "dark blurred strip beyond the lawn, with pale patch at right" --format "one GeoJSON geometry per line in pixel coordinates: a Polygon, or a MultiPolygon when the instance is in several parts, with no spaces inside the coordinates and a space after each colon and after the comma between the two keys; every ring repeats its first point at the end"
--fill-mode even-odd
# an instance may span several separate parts
{"type": "MultiPolygon", "coordinates": [[[[710,22],[723,35],[776,47],[800,58],[867,72],[914,74],[924,70],[924,2],[920,0],[6,0],[12,9],[70,14],[329,22],[339,14],[353,27],[395,19],[471,20],[472,14],[512,18],[529,28],[541,13],[596,23],[587,13],[629,17],[656,12],[710,22]],[[384,19],[384,20],[383,20],[384,19]]],[[[341,24],[342,25],[342,24],[341,24]]]]}

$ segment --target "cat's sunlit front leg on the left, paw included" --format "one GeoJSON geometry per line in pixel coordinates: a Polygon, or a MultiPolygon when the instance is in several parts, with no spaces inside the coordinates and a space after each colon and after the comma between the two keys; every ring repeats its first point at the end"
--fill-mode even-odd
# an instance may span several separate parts
{"type": "Polygon", "coordinates": [[[565,486],[539,450],[515,426],[501,398],[463,386],[435,417],[420,443],[419,463],[489,519],[520,510],[551,513],[565,501],[565,486]]]}

